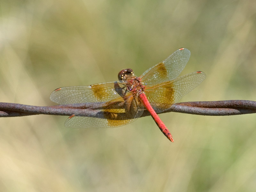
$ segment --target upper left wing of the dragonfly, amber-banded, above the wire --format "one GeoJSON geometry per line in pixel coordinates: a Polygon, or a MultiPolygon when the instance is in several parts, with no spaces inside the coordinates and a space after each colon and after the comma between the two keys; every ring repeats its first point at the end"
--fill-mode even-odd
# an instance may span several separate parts
{"type": "Polygon", "coordinates": [[[73,103],[108,102],[120,98],[116,85],[122,89],[124,84],[116,81],[99,84],[62,87],[53,91],[50,100],[65,105],[73,103]]]}

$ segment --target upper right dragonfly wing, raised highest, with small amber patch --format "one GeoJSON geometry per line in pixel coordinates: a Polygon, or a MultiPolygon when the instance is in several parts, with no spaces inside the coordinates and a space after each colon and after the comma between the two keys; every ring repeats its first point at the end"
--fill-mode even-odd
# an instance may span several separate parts
{"type": "Polygon", "coordinates": [[[154,84],[177,78],[188,63],[189,57],[188,49],[181,48],[175,51],[166,60],[145,71],[141,75],[142,83],[154,84]]]}

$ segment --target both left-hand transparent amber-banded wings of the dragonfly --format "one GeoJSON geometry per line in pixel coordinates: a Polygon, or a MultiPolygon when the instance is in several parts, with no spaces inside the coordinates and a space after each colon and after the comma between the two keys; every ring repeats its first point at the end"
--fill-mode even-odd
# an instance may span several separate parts
{"type": "Polygon", "coordinates": [[[131,92],[124,93],[124,88],[125,82],[116,81],[63,87],[53,91],[50,99],[59,104],[101,103],[70,116],[64,124],[66,127],[119,127],[135,121],[144,110],[138,98],[131,92]]]}

